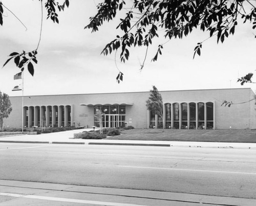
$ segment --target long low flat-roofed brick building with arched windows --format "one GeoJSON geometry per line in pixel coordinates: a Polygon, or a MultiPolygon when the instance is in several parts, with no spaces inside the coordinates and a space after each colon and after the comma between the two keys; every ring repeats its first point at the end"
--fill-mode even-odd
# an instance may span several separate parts
{"type": "Polygon", "coordinates": [[[134,126],[166,129],[256,129],[255,93],[251,88],[159,91],[163,119],[146,107],[150,91],[10,97],[12,112],[4,127],[134,126]],[[223,101],[232,102],[230,107],[223,101]]]}

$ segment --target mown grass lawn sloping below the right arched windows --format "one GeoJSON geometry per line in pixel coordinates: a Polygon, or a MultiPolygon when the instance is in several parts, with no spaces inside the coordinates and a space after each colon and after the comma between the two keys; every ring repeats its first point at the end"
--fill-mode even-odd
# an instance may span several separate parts
{"type": "Polygon", "coordinates": [[[108,140],[256,143],[256,130],[132,129],[108,140]]]}

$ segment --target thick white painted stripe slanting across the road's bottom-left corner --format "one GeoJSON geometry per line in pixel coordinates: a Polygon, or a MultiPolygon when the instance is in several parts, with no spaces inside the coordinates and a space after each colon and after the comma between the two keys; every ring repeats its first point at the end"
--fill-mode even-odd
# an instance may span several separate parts
{"type": "Polygon", "coordinates": [[[101,202],[101,201],[91,201],[91,200],[83,200],[83,199],[69,199],[69,198],[47,197],[47,196],[37,196],[37,195],[22,195],[22,194],[3,193],[3,192],[0,192],[0,195],[29,198],[29,199],[42,199],[42,200],[51,200],[51,201],[75,202],[75,203],[98,204],[98,205],[109,205],[109,206],[145,206],[140,204],[101,202]]]}

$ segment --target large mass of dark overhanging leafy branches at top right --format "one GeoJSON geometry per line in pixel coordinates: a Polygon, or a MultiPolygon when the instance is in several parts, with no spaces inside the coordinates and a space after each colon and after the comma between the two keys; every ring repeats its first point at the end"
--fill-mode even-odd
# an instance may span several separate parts
{"type": "MultiPolygon", "coordinates": [[[[98,12],[90,18],[90,23],[84,29],[92,29],[92,32],[98,31],[104,21],[110,21],[116,17],[117,12],[123,9],[125,2],[128,1],[104,1],[99,4],[98,12]]],[[[209,38],[216,35],[217,43],[223,43],[229,35],[234,35],[239,18],[244,18],[244,22],[250,21],[252,29],[256,28],[256,8],[247,0],[251,8],[251,11],[247,13],[243,8],[244,2],[246,1],[133,0],[131,10],[120,19],[117,26],[117,29],[124,32],[124,35],[106,44],[102,53],[108,55],[112,50],[120,49],[120,60],[125,62],[129,60],[130,47],[145,46],[148,48],[153,38],[158,37],[160,30],[164,30],[163,37],[170,40],[182,39],[199,28],[203,32],[208,31],[209,38]]],[[[193,58],[195,55],[201,55],[204,41],[197,44],[193,58]]],[[[157,60],[162,54],[162,49],[162,46],[158,47],[152,61],[157,60]]]]}

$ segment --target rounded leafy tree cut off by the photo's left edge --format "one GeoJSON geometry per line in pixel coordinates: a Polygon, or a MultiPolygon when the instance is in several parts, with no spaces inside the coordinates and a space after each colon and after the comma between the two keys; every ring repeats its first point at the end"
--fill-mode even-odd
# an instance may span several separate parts
{"type": "Polygon", "coordinates": [[[9,96],[0,91],[0,129],[3,130],[4,118],[8,118],[12,111],[9,96]]]}

